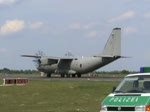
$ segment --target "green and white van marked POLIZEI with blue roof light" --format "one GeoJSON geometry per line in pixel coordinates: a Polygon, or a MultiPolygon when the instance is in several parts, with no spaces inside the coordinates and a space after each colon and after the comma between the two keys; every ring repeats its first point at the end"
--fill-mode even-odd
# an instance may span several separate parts
{"type": "Polygon", "coordinates": [[[127,75],[101,103],[100,112],[150,112],[150,73],[127,75]]]}

